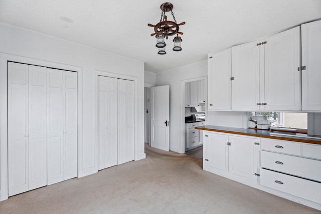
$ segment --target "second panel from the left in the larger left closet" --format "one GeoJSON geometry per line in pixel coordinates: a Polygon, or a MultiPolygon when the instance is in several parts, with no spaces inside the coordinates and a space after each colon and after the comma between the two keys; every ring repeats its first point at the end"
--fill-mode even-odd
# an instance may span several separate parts
{"type": "Polygon", "coordinates": [[[47,185],[47,68],[29,66],[29,190],[47,185]]]}

